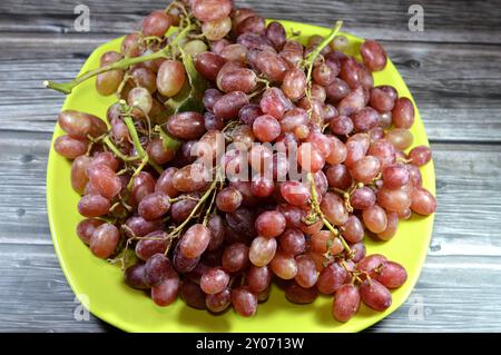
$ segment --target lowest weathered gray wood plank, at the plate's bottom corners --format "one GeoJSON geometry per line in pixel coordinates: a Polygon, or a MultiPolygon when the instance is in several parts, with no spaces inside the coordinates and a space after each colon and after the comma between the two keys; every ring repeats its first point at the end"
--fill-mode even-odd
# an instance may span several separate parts
{"type": "MultiPolygon", "coordinates": [[[[51,246],[0,245],[0,332],[105,332],[79,304],[51,246]]],[[[499,257],[429,256],[407,302],[369,332],[500,332],[499,257]],[[474,282],[473,282],[474,280],[474,282]]]]}

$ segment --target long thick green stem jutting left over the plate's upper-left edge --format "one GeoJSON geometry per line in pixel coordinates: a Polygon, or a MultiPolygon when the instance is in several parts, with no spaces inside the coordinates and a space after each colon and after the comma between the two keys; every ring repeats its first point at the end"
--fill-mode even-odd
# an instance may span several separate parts
{"type": "Polygon", "coordinates": [[[118,60],[118,61],[107,65],[105,67],[86,71],[85,73],[82,73],[81,76],[78,76],[77,78],[75,78],[73,80],[71,80],[69,82],[55,82],[55,81],[46,80],[46,81],[43,81],[43,86],[46,88],[53,89],[53,90],[57,90],[57,91],[68,95],[68,93],[71,93],[72,89],[76,86],[78,86],[81,82],[86,81],[87,79],[96,77],[100,73],[104,73],[104,72],[107,72],[110,70],[124,70],[130,66],[144,62],[144,61],[148,61],[148,60],[155,60],[158,58],[167,58],[168,51],[170,50],[170,48],[174,47],[177,42],[179,42],[179,40],[185,38],[188,34],[188,32],[194,29],[195,29],[195,26],[188,24],[164,49],[161,49],[157,52],[154,52],[151,55],[141,56],[141,57],[132,57],[132,58],[124,58],[121,60],[118,60]]]}

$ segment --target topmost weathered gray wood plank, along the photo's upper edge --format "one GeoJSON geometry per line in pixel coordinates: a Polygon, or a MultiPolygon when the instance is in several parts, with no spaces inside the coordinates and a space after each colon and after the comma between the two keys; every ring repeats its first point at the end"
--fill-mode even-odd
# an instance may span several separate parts
{"type": "MultiPolygon", "coordinates": [[[[168,1],[98,1],[87,0],[90,9],[90,30],[95,33],[124,33],[134,28],[143,16],[164,8],[168,1]]],[[[252,7],[261,16],[322,26],[334,20],[345,21],[345,28],[361,37],[436,42],[501,42],[499,3],[489,1],[433,1],[419,4],[424,10],[424,31],[409,30],[409,7],[415,1],[236,1],[239,7],[252,7]]],[[[72,32],[72,0],[43,1],[3,0],[0,4],[0,31],[4,32],[72,32]]]]}

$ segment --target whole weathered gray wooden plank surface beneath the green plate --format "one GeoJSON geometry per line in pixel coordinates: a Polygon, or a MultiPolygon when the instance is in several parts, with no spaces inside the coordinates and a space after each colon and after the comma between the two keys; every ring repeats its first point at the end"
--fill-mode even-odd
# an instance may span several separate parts
{"type": "MultiPolygon", "coordinates": [[[[373,332],[501,332],[501,11],[499,1],[236,1],[262,16],[381,40],[409,85],[432,142],[433,239],[411,298],[373,332]]],[[[104,332],[76,321],[46,213],[46,166],[63,96],[43,79],[72,78],[99,43],[137,28],[164,1],[0,2],[0,332],[104,332]],[[73,8],[91,30],[73,30],[73,8]]]]}

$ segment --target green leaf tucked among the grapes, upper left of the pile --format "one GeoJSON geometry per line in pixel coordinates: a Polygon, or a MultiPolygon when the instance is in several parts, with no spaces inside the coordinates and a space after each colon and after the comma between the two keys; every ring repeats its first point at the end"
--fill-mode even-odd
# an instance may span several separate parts
{"type": "Polygon", "coordinates": [[[207,82],[195,68],[195,63],[190,55],[179,48],[183,58],[183,65],[188,77],[183,89],[173,98],[165,102],[165,106],[170,115],[185,111],[204,111],[204,92],[207,88],[207,82]]]}

